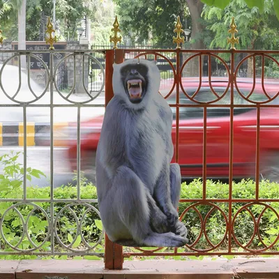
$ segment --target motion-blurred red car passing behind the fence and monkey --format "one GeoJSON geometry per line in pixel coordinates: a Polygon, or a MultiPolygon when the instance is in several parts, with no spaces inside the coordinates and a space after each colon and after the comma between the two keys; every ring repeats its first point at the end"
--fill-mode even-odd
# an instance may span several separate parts
{"type": "MultiPolygon", "coordinates": [[[[219,80],[212,82],[213,89],[221,96],[227,89],[227,82],[219,80]]],[[[265,89],[269,96],[278,93],[279,84],[266,82],[265,89]]],[[[244,96],[248,96],[252,89],[249,79],[238,80],[238,86],[244,96]]],[[[197,90],[197,80],[183,79],[183,87],[189,96],[197,90]]],[[[216,99],[208,82],[202,82],[196,100],[209,101],[216,99]]],[[[251,100],[267,100],[262,90],[261,81],[255,84],[251,100]]],[[[167,98],[169,104],[176,103],[176,96],[172,93],[167,98]]],[[[180,93],[181,104],[195,103],[180,93]]],[[[226,95],[215,104],[229,104],[230,89],[226,95]]],[[[251,105],[234,91],[234,104],[251,105]]],[[[278,107],[264,107],[260,110],[260,177],[264,179],[279,179],[279,97],[268,103],[278,107]]],[[[175,148],[176,108],[174,112],[172,140],[175,148]]],[[[208,179],[227,179],[229,176],[229,107],[208,107],[206,128],[206,177],[208,179]]],[[[203,162],[203,130],[202,107],[180,107],[179,109],[179,165],[181,175],[185,179],[202,177],[203,162]]],[[[103,116],[98,116],[81,123],[81,170],[94,181],[95,154],[102,128],[103,116]],[[84,131],[84,133],[83,133],[84,131]]],[[[76,124],[74,124],[76,126],[76,124]]],[[[234,179],[255,178],[256,156],[256,125],[257,110],[255,107],[234,108],[234,151],[233,177],[234,179]]],[[[76,130],[76,129],[73,129],[76,130]]],[[[68,158],[73,170],[77,163],[76,140],[69,142],[68,158]]],[[[175,153],[174,153],[175,156],[175,153]]],[[[172,160],[174,162],[174,158],[172,160]]]]}

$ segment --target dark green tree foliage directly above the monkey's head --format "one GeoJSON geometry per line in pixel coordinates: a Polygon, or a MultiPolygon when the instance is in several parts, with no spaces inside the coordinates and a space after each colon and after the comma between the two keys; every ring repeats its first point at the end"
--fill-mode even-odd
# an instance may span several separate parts
{"type": "MultiPolygon", "coordinates": [[[[132,43],[173,45],[174,26],[179,15],[185,26],[188,9],[186,1],[179,0],[114,0],[123,34],[132,43]]],[[[190,17],[188,17],[188,20],[190,17]]]]}

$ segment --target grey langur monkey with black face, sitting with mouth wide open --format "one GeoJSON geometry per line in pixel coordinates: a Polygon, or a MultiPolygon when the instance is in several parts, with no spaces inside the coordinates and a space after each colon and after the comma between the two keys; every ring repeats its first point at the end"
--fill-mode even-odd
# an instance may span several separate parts
{"type": "Polygon", "coordinates": [[[172,110],[158,93],[156,62],[114,64],[96,153],[100,217],[109,239],[124,246],[177,247],[187,229],[176,208],[181,172],[171,164],[172,110]]]}

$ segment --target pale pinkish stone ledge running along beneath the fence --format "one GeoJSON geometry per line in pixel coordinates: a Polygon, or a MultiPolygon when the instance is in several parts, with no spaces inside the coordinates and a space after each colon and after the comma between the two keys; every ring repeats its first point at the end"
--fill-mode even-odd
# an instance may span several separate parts
{"type": "Polygon", "coordinates": [[[211,261],[126,261],[121,271],[104,269],[103,261],[0,261],[0,279],[232,279],[279,278],[279,259],[211,261]]]}

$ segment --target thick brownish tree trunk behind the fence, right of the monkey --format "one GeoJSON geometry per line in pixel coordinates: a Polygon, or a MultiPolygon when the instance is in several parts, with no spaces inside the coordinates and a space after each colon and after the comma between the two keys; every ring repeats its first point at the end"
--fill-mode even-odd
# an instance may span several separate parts
{"type": "MultiPolygon", "coordinates": [[[[191,40],[193,40],[193,44],[191,45],[191,48],[195,50],[203,50],[205,48],[204,42],[200,38],[198,38],[198,36],[204,30],[204,25],[202,25],[201,23],[201,14],[204,3],[202,3],[200,0],[186,0],[186,3],[190,10],[190,16],[192,20],[192,33],[190,34],[190,36],[191,40]]],[[[185,61],[191,55],[193,54],[183,54],[183,60],[185,61]]],[[[204,60],[203,58],[204,56],[202,56],[202,65],[204,60]]],[[[187,66],[183,70],[183,76],[199,76],[199,59],[197,57],[187,63],[187,66]]]]}

